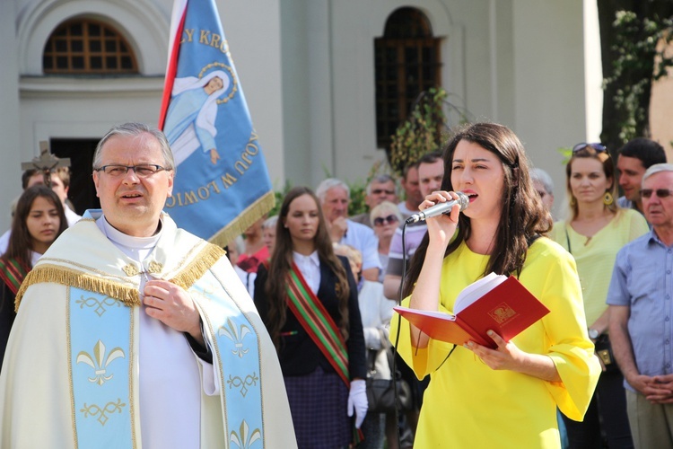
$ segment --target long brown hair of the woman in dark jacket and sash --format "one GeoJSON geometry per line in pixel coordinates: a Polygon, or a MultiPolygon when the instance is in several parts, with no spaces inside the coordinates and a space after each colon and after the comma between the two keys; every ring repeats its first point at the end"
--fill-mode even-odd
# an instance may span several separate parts
{"type": "Polygon", "coordinates": [[[295,187],[285,195],[283,205],[278,214],[278,223],[275,225],[274,254],[269,261],[268,277],[265,285],[269,321],[266,324],[276,349],[280,347],[280,330],[283,329],[287,319],[287,282],[288,273],[293,263],[293,240],[289,229],[285,227],[285,219],[294,199],[302,195],[309,195],[316,202],[316,207],[318,207],[318,231],[313,241],[318,251],[320,263],[326,264],[328,269],[337,276],[336,292],[339,302],[339,314],[341,315],[340,323],[337,324],[339,324],[339,329],[344,339],[348,339],[348,297],[350,295],[350,287],[348,286],[348,278],[346,277],[344,266],[337,259],[332,249],[332,241],[329,238],[328,228],[325,224],[325,217],[322,215],[322,208],[320,207],[318,197],[307,187],[295,187]]]}

